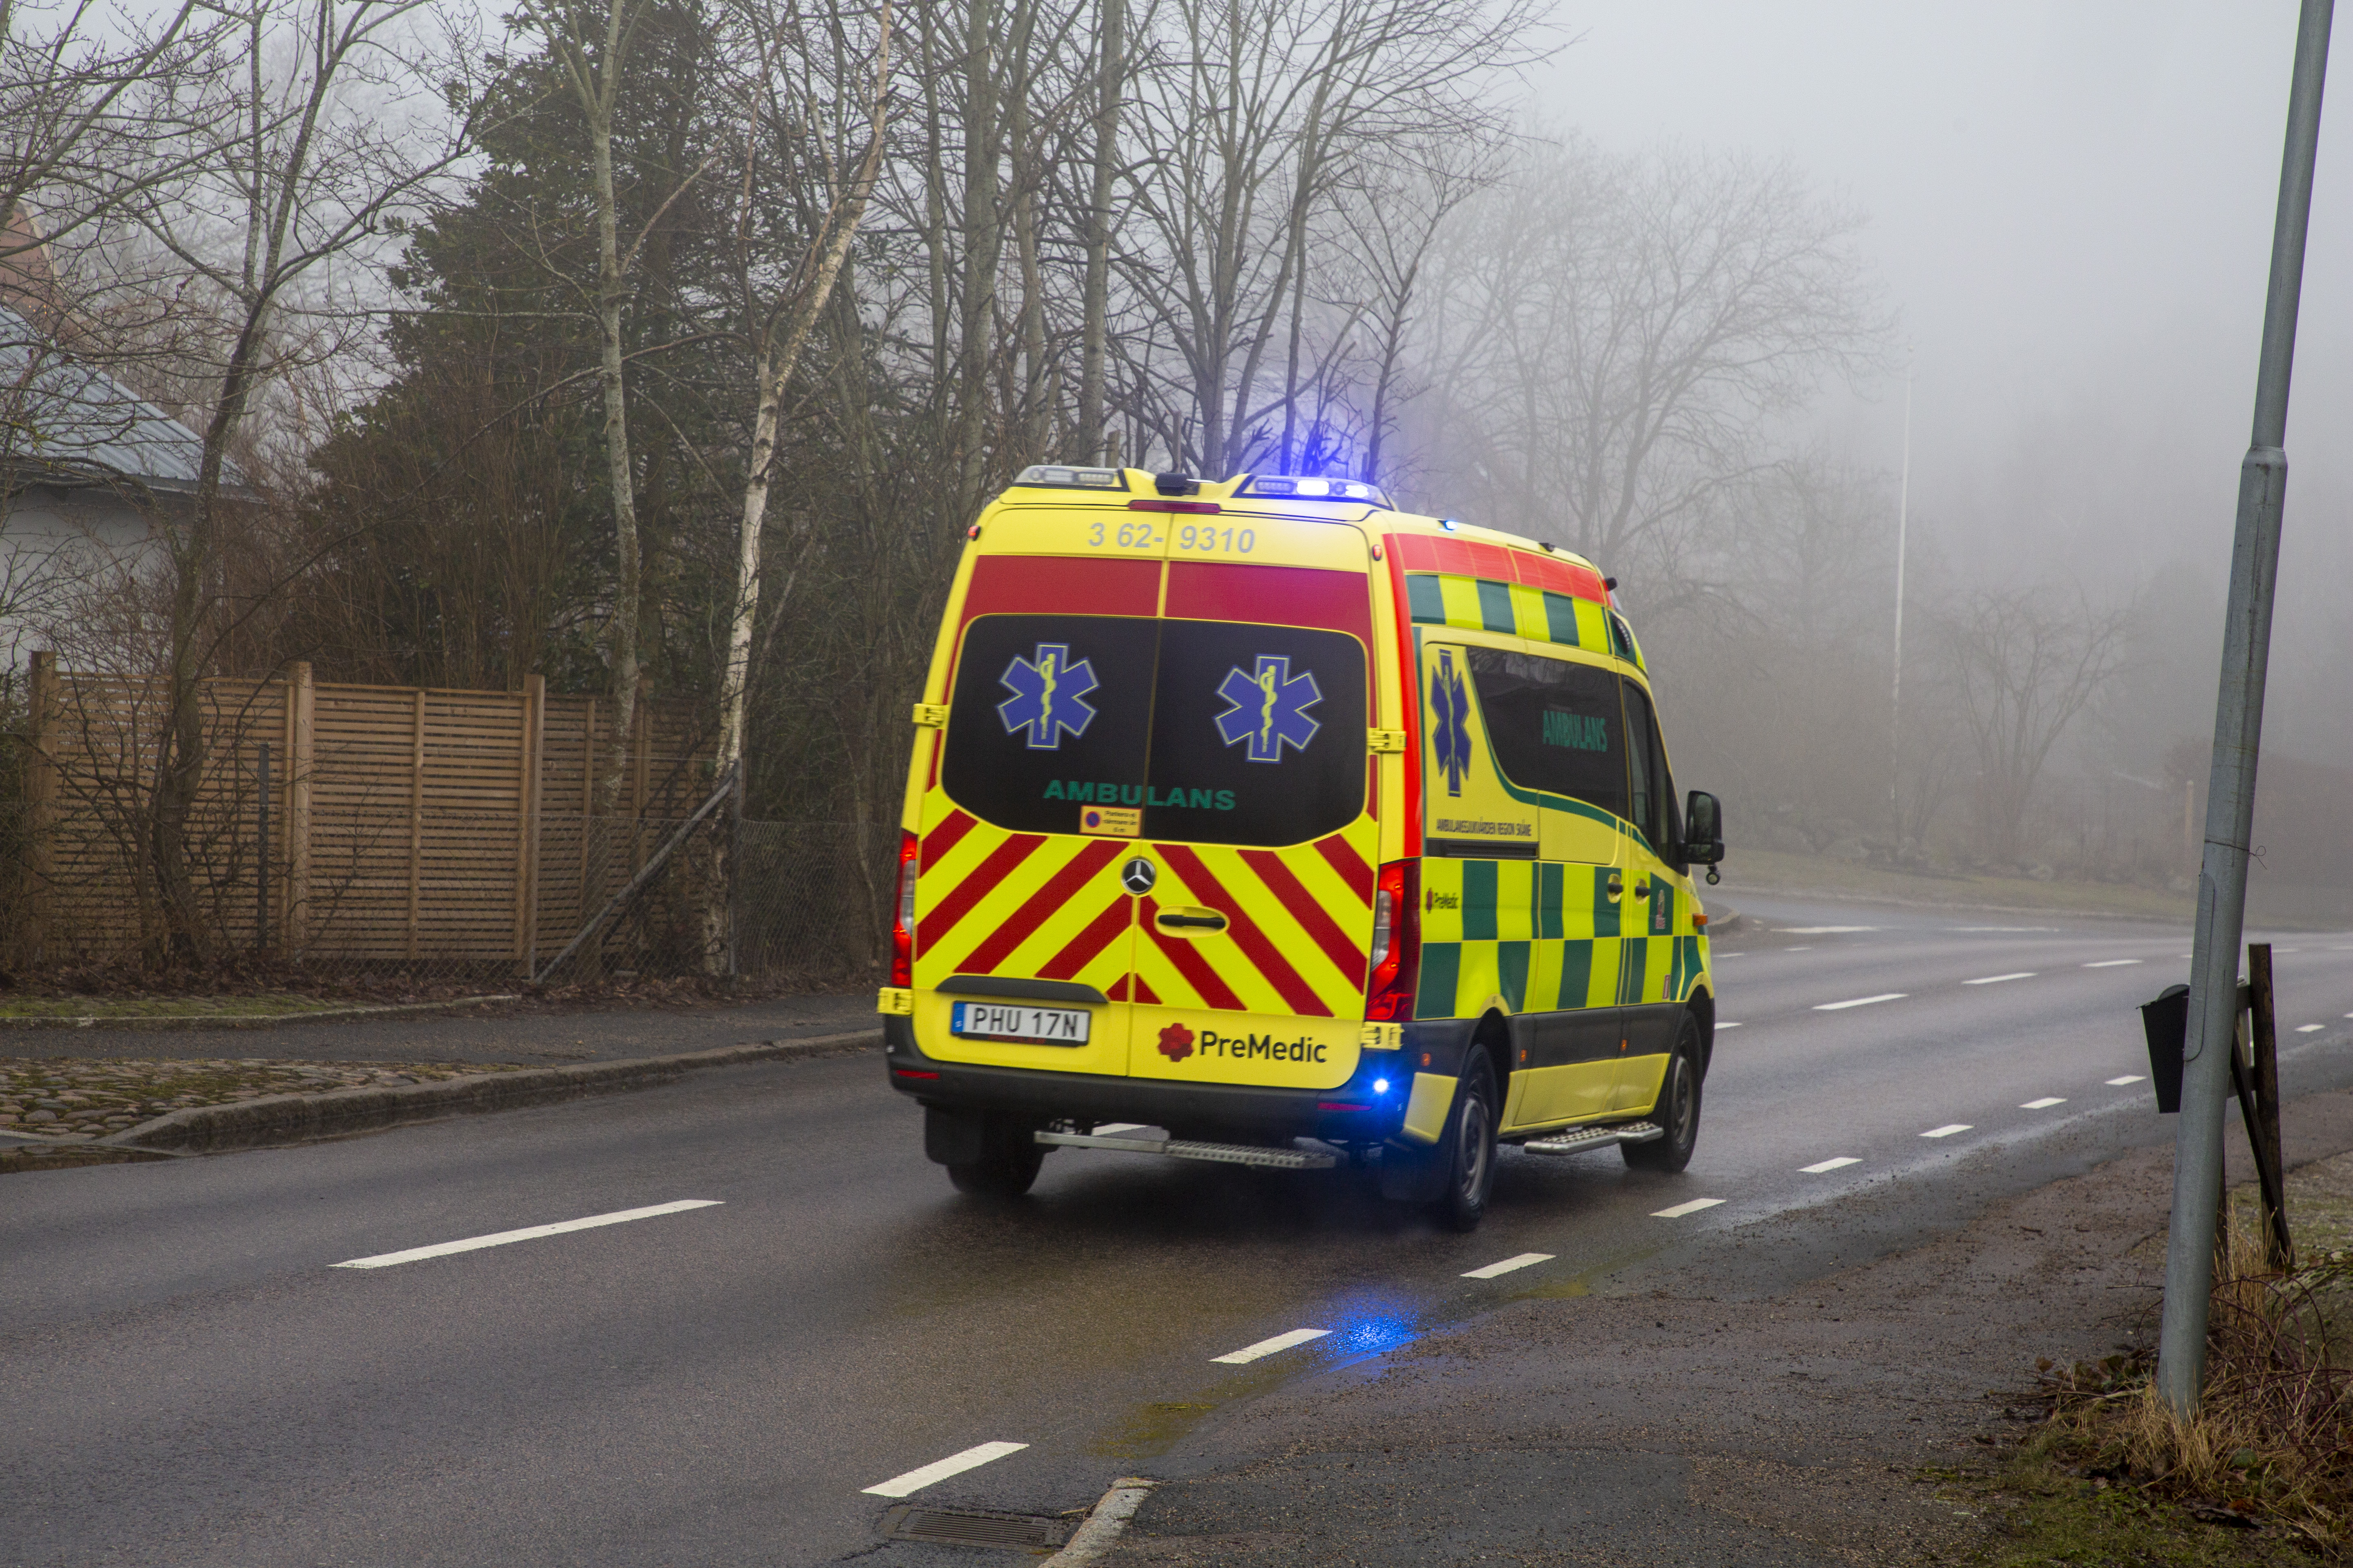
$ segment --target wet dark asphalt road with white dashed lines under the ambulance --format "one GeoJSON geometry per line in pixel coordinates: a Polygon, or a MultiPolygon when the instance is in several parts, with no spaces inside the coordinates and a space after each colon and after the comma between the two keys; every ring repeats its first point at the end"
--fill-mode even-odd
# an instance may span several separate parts
{"type": "MultiPolygon", "coordinates": [[[[1506,1154],[1473,1237],[1348,1171],[1068,1150],[1028,1201],[976,1204],[878,1056],[12,1175],[0,1563],[1014,1561],[878,1547],[861,1488],[1000,1441],[1024,1448],[918,1497],[1078,1509],[1214,1465],[1191,1434],[1217,1410],[1513,1295],[1708,1258],[1722,1295],[1765,1293],[2169,1138],[2146,1081],[2106,1079],[2146,1072],[2132,1009],[2186,952],[2160,926],[1751,900],[1718,945],[1739,1027],[1692,1168],[1506,1154]],[[1826,1011],[1864,997],[1889,999],[1826,1011]],[[718,1206],[329,1267],[680,1199],[718,1206]],[[1720,1201],[1657,1218],[1697,1199],[1720,1201]],[[1777,1241],[1746,1246],[1760,1220],[1777,1241]],[[1518,1253],[1553,1258],[1461,1276],[1518,1253]],[[1327,1333],[1212,1361],[1297,1328],[1327,1333]]],[[[2353,936],[2280,936],[2278,992],[2287,1091],[2353,1084],[2353,936]]]]}

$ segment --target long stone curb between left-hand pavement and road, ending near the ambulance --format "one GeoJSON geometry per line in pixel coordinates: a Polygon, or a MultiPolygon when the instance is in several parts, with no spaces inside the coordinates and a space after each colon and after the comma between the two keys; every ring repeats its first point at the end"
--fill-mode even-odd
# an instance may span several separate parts
{"type": "Polygon", "coordinates": [[[480,1072],[440,1084],[398,1088],[334,1088],[320,1095],[266,1095],[233,1105],[191,1105],[139,1126],[82,1143],[85,1150],[148,1150],[165,1154],[224,1154],[282,1143],[311,1143],[344,1133],[372,1133],[407,1121],[438,1121],[525,1105],[553,1105],[586,1095],[654,1088],[706,1067],[784,1063],[807,1056],[842,1056],[882,1044],[880,1030],[821,1034],[816,1039],[769,1039],[682,1056],[649,1056],[628,1063],[581,1063],[579,1067],[527,1067],[480,1072]]]}

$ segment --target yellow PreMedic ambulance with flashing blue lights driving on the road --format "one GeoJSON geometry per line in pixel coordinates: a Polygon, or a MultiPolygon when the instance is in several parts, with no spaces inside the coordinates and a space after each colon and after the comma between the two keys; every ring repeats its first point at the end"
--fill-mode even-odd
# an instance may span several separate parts
{"type": "Polygon", "coordinates": [[[1346,1157],[1459,1229],[1497,1143],[1682,1171],[1722,827],[1612,588],[1355,480],[1024,470],[915,705],[880,1013],[929,1159],[1346,1157]]]}

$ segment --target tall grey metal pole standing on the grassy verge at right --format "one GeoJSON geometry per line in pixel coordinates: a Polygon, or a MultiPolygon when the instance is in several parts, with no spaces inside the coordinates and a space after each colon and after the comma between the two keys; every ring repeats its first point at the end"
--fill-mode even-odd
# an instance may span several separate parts
{"type": "Polygon", "coordinates": [[[2254,383],[2254,440],[2238,470],[2231,607],[2224,621],[2221,689],[2214,698],[2214,769],[2207,778],[2188,1039],[2181,1048],[2174,1220],[2165,1246],[2165,1326],[2158,1333],[2158,1394],[2181,1415],[2198,1410],[2198,1389],[2205,1382],[2214,1222],[2221,1197],[2221,1121],[2224,1095],[2231,1091],[2238,945],[2247,914],[2254,759],[2264,736],[2271,597],[2280,578],[2287,383],[2297,355],[2304,228],[2313,209],[2313,155],[2320,143],[2320,87],[2327,75],[2332,12],[2334,0],[2304,0],[2304,16],[2297,24],[2287,150],[2280,158],[2280,212],[2271,235],[2271,296],[2264,306],[2264,360],[2254,383]]]}

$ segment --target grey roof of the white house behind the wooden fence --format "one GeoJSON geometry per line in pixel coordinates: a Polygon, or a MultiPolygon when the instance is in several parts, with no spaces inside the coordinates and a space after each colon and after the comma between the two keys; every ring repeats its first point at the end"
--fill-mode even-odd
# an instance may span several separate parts
{"type": "MultiPolygon", "coordinates": [[[[202,437],[0,306],[0,458],[38,484],[193,491],[202,437]]],[[[235,465],[221,473],[242,487],[235,465]]]]}

